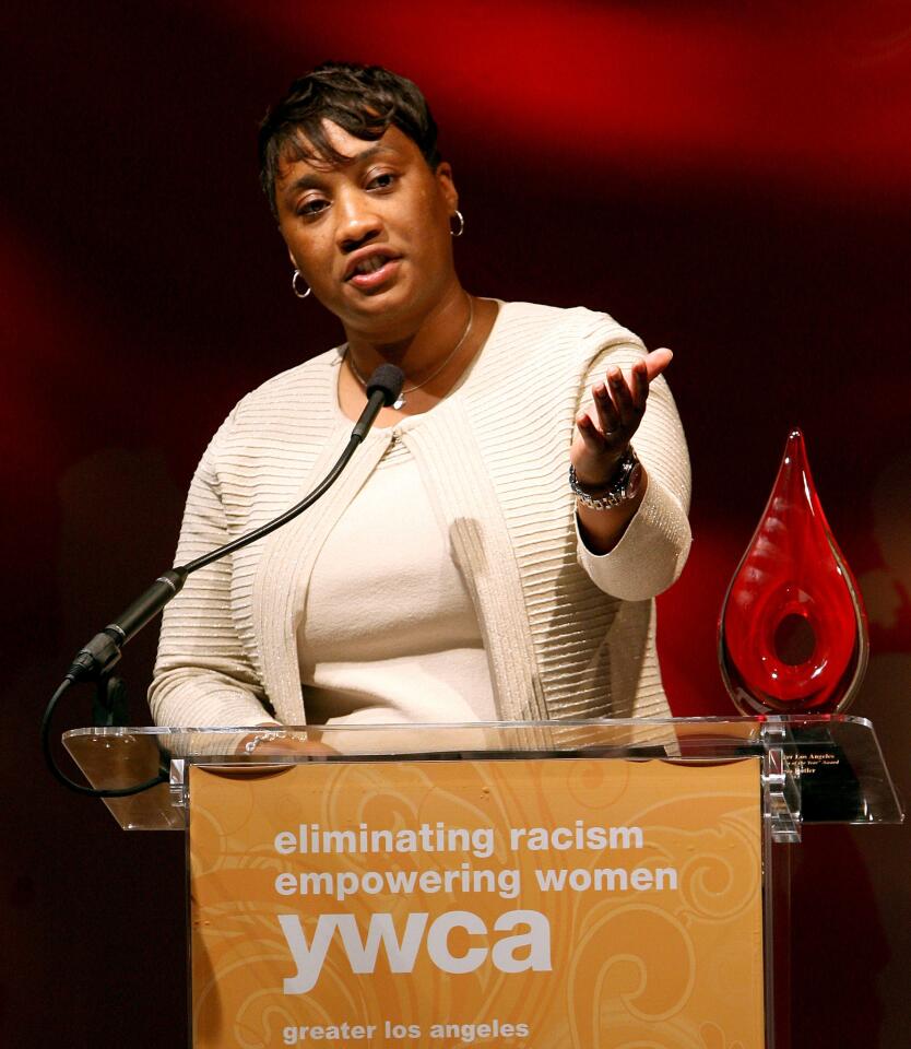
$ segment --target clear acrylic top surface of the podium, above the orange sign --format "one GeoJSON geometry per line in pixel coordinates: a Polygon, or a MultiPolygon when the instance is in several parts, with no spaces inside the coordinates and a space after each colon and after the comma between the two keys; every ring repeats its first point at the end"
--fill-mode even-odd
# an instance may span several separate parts
{"type": "Polygon", "coordinates": [[[873,726],[843,715],[789,718],[525,721],[200,728],[84,728],[63,735],[93,787],[169,775],[143,793],[105,799],[125,829],[185,829],[186,765],[312,762],[660,759],[705,764],[770,756],[793,782],[804,823],[900,823],[902,810],[873,726]],[[245,743],[256,736],[251,753],[245,743]],[[274,750],[273,750],[274,749],[274,750]]]}

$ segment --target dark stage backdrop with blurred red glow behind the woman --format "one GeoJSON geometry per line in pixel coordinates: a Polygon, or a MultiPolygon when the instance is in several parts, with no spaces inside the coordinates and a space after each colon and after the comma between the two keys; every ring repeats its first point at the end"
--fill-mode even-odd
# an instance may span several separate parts
{"type": "MultiPolygon", "coordinates": [[[[907,3],[34,0],[2,17],[3,1045],[185,1039],[182,836],[123,834],[59,788],[37,726],[74,651],[170,564],[234,402],[339,341],[291,294],[253,149],[267,103],[323,58],[424,87],[472,292],[606,309],[676,351],[695,543],[660,649],[678,715],[733,712],[718,611],[803,427],[869,616],[851,712],[907,797],[907,3]]],[[[125,660],[135,722],[154,633],[125,660]]],[[[78,695],[59,727],[88,719],[78,695]]],[[[836,827],[794,849],[797,1044],[907,1045],[908,845],[836,827]]]]}

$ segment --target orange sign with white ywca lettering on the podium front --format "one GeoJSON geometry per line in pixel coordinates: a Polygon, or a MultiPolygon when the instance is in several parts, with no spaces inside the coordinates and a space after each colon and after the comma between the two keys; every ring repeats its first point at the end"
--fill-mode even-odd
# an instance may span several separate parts
{"type": "Polygon", "coordinates": [[[760,1049],[759,766],[190,774],[196,1049],[760,1049]]]}

